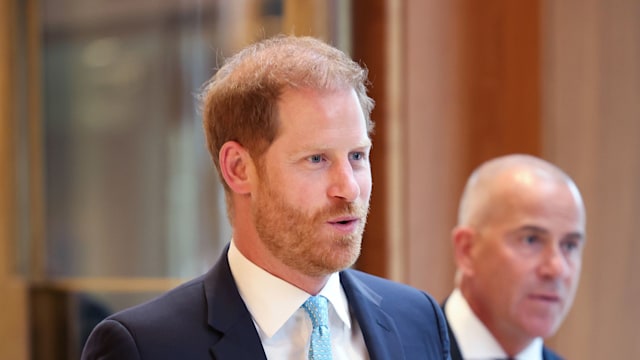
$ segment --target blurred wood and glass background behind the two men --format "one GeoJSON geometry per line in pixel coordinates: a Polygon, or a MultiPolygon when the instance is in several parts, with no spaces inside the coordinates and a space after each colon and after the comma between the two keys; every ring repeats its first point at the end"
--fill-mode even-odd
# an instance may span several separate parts
{"type": "Polygon", "coordinates": [[[537,155],[588,212],[578,295],[547,344],[640,358],[639,1],[1,0],[0,359],[77,359],[102,318],[213,264],[230,228],[197,94],[277,33],[369,68],[358,268],[443,300],[469,172],[537,155]]]}

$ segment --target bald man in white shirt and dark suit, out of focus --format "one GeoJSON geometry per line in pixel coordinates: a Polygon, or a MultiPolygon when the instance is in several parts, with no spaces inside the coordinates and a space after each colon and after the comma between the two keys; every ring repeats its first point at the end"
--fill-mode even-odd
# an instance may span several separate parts
{"type": "Polygon", "coordinates": [[[469,178],[444,304],[452,360],[561,359],[543,344],[571,308],[585,243],[577,186],[553,164],[507,155],[469,178]]]}

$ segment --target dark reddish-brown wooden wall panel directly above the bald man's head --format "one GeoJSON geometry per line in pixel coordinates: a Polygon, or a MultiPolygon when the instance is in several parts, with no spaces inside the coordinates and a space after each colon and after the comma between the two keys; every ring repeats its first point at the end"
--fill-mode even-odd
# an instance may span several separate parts
{"type": "Polygon", "coordinates": [[[538,1],[464,1],[460,68],[468,170],[541,153],[538,1]]]}

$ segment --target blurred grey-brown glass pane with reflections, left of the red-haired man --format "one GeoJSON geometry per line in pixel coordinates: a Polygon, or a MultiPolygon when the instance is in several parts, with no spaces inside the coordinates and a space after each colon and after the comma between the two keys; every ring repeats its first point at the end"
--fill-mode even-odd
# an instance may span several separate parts
{"type": "Polygon", "coordinates": [[[196,94],[281,2],[42,3],[45,275],[204,272],[230,229],[196,94]]]}

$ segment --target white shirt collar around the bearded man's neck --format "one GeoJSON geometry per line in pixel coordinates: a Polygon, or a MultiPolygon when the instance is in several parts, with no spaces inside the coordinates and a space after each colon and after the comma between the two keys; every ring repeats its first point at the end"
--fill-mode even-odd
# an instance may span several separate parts
{"type": "MultiPolygon", "coordinates": [[[[267,337],[273,336],[311,296],[252,263],[238,250],[233,240],[227,257],[240,296],[253,321],[267,337]]],[[[338,273],[331,274],[319,295],[329,300],[329,308],[333,308],[345,326],[351,328],[347,296],[340,285],[338,273]]]]}

